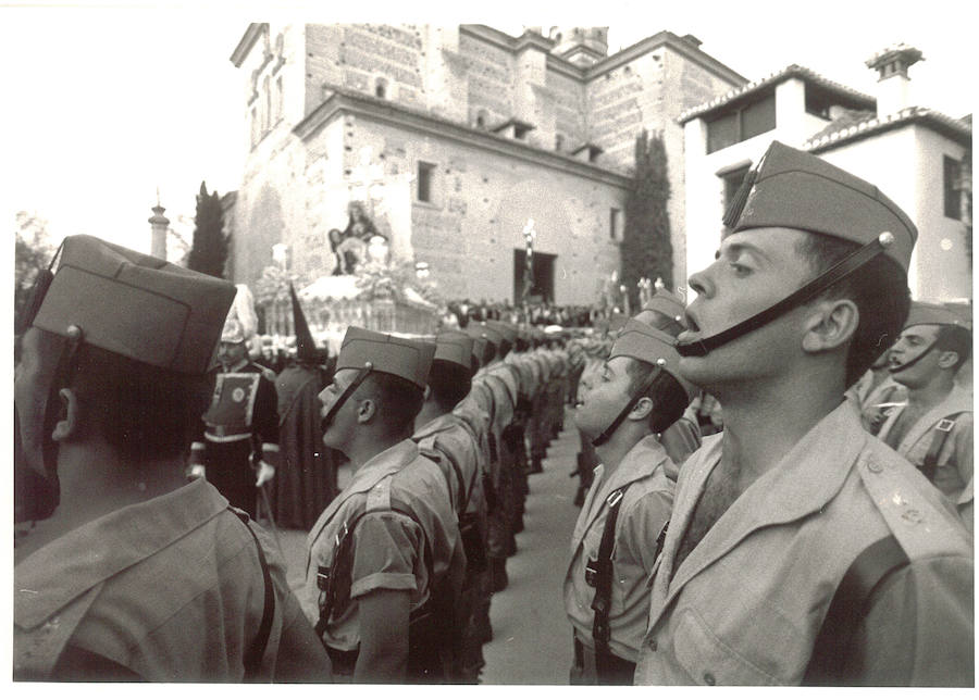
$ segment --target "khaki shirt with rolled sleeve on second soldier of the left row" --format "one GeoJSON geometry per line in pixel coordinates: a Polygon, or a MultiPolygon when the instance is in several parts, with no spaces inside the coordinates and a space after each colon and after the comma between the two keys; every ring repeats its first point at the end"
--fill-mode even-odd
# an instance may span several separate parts
{"type": "MultiPolygon", "coordinates": [[[[352,530],[354,562],[350,576],[350,600],[334,610],[323,633],[323,641],[333,649],[352,651],[360,643],[357,599],[374,590],[406,590],[410,610],[429,600],[433,582],[430,576],[450,579],[461,576],[466,554],[459,527],[449,502],[442,472],[422,457],[418,446],[408,440],[374,455],[354,473],[350,484],[323,511],[307,538],[306,588],[302,608],[315,624],[320,618],[320,590],[317,573],[331,566],[336,546],[346,526],[368,507],[369,492],[382,487],[387,476],[391,497],[407,505],[417,518],[394,511],[371,513],[352,530]],[[424,548],[432,550],[433,572],[425,566],[424,548]]],[[[406,630],[407,634],[407,630],[406,630]]]]}

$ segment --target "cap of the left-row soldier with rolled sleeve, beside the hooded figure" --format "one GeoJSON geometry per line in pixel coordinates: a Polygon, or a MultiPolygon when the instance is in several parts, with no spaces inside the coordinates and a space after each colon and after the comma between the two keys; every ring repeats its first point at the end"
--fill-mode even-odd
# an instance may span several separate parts
{"type": "Polygon", "coordinates": [[[434,357],[434,342],[350,326],[340,343],[336,371],[370,366],[372,372],[393,374],[424,390],[434,357]]]}

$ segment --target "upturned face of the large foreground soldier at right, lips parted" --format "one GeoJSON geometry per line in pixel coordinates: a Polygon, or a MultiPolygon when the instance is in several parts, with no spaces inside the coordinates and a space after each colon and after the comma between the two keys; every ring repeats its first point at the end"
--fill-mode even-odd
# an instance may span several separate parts
{"type": "MultiPolygon", "coordinates": [[[[727,330],[815,277],[809,261],[798,252],[807,236],[792,228],[767,227],[726,237],[714,264],[690,278],[697,297],[686,309],[690,327],[678,339],[698,340],[727,330]]],[[[804,314],[805,307],[796,308],[706,357],[682,358],[680,371],[708,388],[714,383],[778,376],[801,351],[804,314]]]]}

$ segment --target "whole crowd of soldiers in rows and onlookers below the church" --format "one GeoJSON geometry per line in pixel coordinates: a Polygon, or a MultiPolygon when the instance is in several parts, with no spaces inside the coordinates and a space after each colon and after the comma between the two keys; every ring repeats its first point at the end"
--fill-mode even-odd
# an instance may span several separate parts
{"type": "Polygon", "coordinates": [[[633,317],[458,302],[325,358],[294,295],[277,372],[233,285],[65,239],[17,320],[14,678],[478,683],[573,416],[570,683],[972,686],[969,320],[809,153],[723,223],[633,317]],[[263,517],[308,530],[301,589],[263,517]]]}

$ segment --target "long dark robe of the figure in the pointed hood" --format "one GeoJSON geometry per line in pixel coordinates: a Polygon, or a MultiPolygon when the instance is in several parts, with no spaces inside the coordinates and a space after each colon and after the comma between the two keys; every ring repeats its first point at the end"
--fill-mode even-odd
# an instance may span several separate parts
{"type": "Polygon", "coordinates": [[[294,363],[275,382],[280,467],[270,483],[278,527],[308,530],[337,493],[343,455],[323,445],[318,395],[325,386],[315,366],[294,363]]]}

